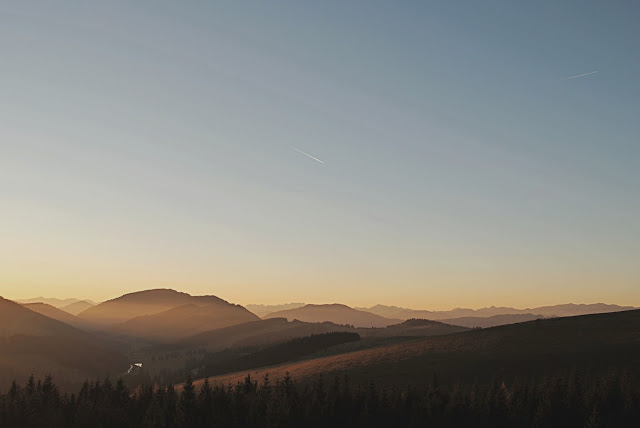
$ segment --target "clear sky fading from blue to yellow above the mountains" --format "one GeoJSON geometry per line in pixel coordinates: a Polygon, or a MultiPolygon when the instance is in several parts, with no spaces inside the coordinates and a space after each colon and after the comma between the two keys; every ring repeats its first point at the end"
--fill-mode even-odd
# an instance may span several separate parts
{"type": "Polygon", "coordinates": [[[0,295],[640,306],[639,21],[4,1],[0,295]]]}

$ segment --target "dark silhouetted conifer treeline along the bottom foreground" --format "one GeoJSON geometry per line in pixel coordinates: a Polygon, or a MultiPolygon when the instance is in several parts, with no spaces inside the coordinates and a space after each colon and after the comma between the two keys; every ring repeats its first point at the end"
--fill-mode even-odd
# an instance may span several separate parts
{"type": "Polygon", "coordinates": [[[629,373],[573,373],[505,385],[382,388],[350,385],[343,376],[305,387],[289,376],[272,382],[196,388],[188,380],[130,391],[119,380],[86,383],[60,394],[51,377],[15,383],[0,395],[2,427],[638,427],[640,386],[629,373]]]}

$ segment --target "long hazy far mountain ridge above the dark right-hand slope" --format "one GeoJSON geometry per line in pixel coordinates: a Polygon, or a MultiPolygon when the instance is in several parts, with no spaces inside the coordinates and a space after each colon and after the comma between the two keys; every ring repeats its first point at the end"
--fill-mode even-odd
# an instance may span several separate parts
{"type": "Polygon", "coordinates": [[[481,309],[465,309],[456,308],[450,311],[427,311],[418,309],[400,308],[397,306],[376,305],[371,308],[357,308],[365,310],[376,315],[386,318],[410,319],[423,318],[431,320],[451,320],[454,318],[466,317],[492,317],[496,315],[514,315],[514,314],[536,314],[544,317],[568,317],[575,315],[600,314],[607,312],[619,312],[625,310],[636,309],[633,306],[607,305],[604,303],[594,303],[588,305],[577,305],[573,303],[539,306],[537,308],[516,309],[510,307],[496,307],[481,309]]]}

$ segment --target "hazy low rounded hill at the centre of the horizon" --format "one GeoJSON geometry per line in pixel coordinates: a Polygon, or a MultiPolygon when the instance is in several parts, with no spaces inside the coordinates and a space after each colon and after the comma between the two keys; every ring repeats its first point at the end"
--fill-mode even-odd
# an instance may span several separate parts
{"type": "Polygon", "coordinates": [[[366,311],[359,311],[346,305],[305,305],[301,308],[287,309],[268,314],[268,318],[287,318],[305,322],[329,321],[335,324],[349,324],[355,327],[387,327],[399,324],[403,320],[389,319],[366,311]]]}

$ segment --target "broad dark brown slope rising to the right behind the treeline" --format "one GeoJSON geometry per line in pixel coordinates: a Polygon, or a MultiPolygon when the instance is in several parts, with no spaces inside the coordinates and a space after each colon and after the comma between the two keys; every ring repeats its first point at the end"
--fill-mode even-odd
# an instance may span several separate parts
{"type": "Polygon", "coordinates": [[[640,369],[640,311],[552,318],[417,339],[397,345],[223,375],[236,382],[247,373],[296,379],[348,373],[355,382],[425,384],[511,379],[573,369],[640,369]]]}

